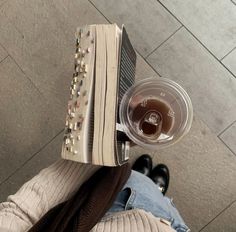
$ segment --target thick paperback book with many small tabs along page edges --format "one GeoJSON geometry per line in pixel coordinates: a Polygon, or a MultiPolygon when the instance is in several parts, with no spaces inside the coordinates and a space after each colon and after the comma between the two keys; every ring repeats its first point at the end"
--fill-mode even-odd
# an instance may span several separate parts
{"type": "Polygon", "coordinates": [[[86,25],[76,51],[63,138],[63,159],[118,166],[129,159],[119,105],[134,84],[136,53],[124,25],[86,25]]]}

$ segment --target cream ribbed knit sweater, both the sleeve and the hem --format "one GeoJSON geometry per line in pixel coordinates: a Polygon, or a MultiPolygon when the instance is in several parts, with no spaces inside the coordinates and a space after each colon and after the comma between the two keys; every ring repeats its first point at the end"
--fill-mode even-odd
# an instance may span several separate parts
{"type": "MultiPolygon", "coordinates": [[[[0,231],[27,231],[49,209],[67,200],[99,166],[59,160],[25,183],[0,204],[0,231]]],[[[104,217],[92,231],[174,231],[168,222],[143,210],[129,210],[104,217]]]]}

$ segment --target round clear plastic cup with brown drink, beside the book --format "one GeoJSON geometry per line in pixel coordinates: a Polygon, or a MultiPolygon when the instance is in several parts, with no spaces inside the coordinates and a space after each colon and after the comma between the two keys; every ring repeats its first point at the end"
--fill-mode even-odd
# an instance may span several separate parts
{"type": "Polygon", "coordinates": [[[156,150],[188,133],[193,107],[179,84],[152,77],[137,82],[125,93],[119,116],[124,132],[135,144],[156,150]]]}

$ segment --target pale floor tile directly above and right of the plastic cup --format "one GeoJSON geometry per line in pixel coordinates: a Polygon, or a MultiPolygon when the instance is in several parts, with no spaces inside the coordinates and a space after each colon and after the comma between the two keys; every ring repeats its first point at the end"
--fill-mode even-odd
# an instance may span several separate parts
{"type": "Polygon", "coordinates": [[[217,134],[236,117],[236,79],[184,28],[147,59],[189,93],[193,107],[217,134]]]}

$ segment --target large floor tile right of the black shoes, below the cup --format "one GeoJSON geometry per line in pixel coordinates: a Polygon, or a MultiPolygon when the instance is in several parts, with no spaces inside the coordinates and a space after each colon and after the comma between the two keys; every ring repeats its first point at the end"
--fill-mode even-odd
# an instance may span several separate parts
{"type": "Polygon", "coordinates": [[[236,199],[236,158],[197,117],[190,133],[157,151],[154,161],[169,167],[167,195],[191,231],[199,231],[236,199]]]}

